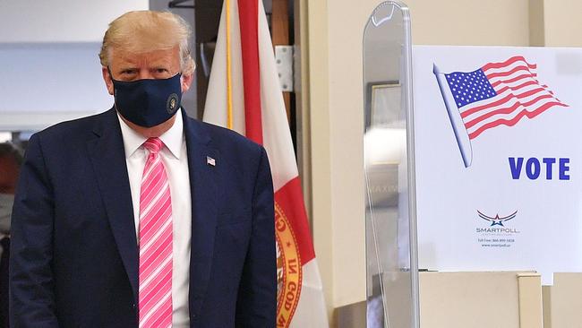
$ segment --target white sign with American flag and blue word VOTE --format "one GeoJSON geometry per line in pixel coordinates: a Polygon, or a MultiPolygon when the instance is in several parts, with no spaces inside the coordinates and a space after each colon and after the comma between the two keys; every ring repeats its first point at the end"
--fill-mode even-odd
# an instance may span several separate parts
{"type": "Polygon", "coordinates": [[[413,56],[419,267],[582,272],[582,48],[413,56]]]}

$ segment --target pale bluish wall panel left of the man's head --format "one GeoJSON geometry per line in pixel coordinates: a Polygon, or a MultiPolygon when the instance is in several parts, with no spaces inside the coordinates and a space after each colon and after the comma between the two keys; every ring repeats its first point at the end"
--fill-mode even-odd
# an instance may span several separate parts
{"type": "Polygon", "coordinates": [[[100,43],[0,44],[0,131],[36,130],[111,108],[100,43]]]}

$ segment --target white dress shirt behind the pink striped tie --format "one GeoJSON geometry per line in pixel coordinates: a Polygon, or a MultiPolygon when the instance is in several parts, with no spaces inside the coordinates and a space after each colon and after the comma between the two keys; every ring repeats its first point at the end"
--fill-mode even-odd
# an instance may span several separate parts
{"type": "MultiPolygon", "coordinates": [[[[119,117],[121,133],[124,137],[125,163],[132,191],[133,219],[135,234],[139,240],[140,227],[140,188],[143,168],[149,152],[143,147],[147,140],[133,131],[119,117]]],[[[188,154],[184,136],[182,109],[175,114],[174,125],[159,136],[165,147],[159,151],[167,170],[172,199],[173,224],[173,265],[172,265],[172,327],[190,327],[188,309],[188,290],[190,284],[190,241],[192,237],[192,199],[190,176],[188,175],[188,154]]]]}

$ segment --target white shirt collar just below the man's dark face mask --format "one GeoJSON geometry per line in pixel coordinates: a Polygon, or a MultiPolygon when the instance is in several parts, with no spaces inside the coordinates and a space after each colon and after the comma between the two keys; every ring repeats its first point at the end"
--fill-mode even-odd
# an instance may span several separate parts
{"type": "MultiPolygon", "coordinates": [[[[121,134],[124,138],[124,149],[125,158],[132,157],[133,153],[137,151],[143,142],[148,140],[141,134],[133,131],[129,125],[127,125],[124,120],[117,113],[117,119],[119,120],[119,125],[121,126],[121,134]]],[[[180,154],[182,150],[182,142],[184,142],[184,123],[182,120],[182,108],[179,108],[175,113],[175,122],[169,130],[164,134],[159,136],[159,139],[164,142],[167,149],[174,155],[174,157],[180,160],[180,154]]]]}

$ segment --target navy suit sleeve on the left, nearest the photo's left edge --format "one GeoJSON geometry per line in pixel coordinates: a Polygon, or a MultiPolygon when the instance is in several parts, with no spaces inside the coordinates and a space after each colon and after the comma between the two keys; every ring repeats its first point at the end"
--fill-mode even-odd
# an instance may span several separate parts
{"type": "Polygon", "coordinates": [[[53,191],[39,137],[30,138],[14,198],[10,257],[12,327],[58,327],[52,272],[53,191]]]}

